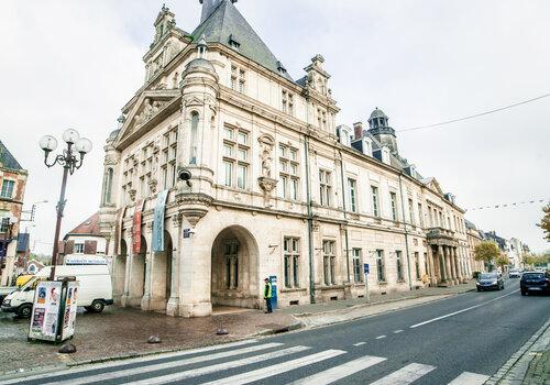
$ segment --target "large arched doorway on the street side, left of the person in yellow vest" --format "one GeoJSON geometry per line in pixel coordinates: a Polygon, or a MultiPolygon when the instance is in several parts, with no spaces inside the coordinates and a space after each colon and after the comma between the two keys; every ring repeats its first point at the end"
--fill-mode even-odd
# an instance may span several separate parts
{"type": "Polygon", "coordinates": [[[213,241],[211,260],[212,306],[260,308],[254,237],[239,226],[222,230],[213,241]]]}

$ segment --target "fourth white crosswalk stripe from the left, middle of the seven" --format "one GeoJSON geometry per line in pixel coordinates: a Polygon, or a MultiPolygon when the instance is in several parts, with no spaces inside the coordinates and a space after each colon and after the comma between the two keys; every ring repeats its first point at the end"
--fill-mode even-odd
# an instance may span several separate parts
{"type": "Polygon", "coordinates": [[[260,381],[263,378],[267,378],[280,373],[289,372],[298,367],[307,366],[315,364],[317,362],[321,362],[328,359],[332,359],[337,355],[344,354],[345,352],[343,350],[326,350],[320,353],[311,354],[311,355],[306,355],[300,359],[283,362],[277,365],[272,365],[272,366],[266,366],[262,367],[252,372],[243,373],[243,374],[238,374],[234,376],[212,381],[210,383],[206,383],[202,385],[226,385],[226,384],[231,384],[231,385],[240,385],[240,384],[250,384],[255,381],[260,381]]]}

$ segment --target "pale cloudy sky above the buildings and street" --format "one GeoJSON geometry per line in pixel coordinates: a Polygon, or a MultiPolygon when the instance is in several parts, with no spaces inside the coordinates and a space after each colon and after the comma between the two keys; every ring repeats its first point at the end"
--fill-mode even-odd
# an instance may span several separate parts
{"type": "MultiPolygon", "coordinates": [[[[198,0],[172,0],[193,31],[198,0]]],[[[550,92],[550,1],[240,0],[238,8],[294,78],[326,58],[338,123],[378,107],[396,130],[448,121],[550,92]]],[[[0,138],[29,169],[37,252],[51,252],[61,167],[38,139],[77,129],[95,145],[69,179],[63,231],[99,206],[102,146],[142,85],[162,1],[2,0],[0,138]]],[[[435,130],[398,133],[400,153],[464,208],[550,198],[550,98],[435,130]]],[[[469,211],[484,230],[549,249],[542,204],[469,211]]],[[[23,224],[24,227],[24,224],[23,224]]]]}

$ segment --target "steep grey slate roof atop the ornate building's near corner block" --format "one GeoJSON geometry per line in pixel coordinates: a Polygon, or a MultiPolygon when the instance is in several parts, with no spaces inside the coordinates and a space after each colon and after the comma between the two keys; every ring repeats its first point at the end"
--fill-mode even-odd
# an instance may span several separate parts
{"type": "Polygon", "coordinates": [[[230,0],[223,0],[212,14],[197,26],[191,36],[194,41],[198,41],[202,34],[207,43],[223,44],[266,69],[294,81],[288,73],[278,70],[280,62],[230,0]],[[234,48],[229,44],[230,38],[240,44],[239,48],[234,48]]]}

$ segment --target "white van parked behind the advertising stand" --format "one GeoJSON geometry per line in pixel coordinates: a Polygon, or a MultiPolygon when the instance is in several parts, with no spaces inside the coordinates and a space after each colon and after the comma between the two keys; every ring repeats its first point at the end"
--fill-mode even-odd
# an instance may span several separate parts
{"type": "MultiPolygon", "coordinates": [[[[31,317],[36,283],[48,279],[51,271],[52,266],[44,267],[25,285],[9,294],[2,302],[2,311],[16,312],[25,318],[31,317]]],[[[55,266],[55,279],[65,277],[75,277],[79,283],[78,306],[84,306],[88,311],[101,312],[106,305],[112,305],[112,284],[109,266],[55,266]]]]}

